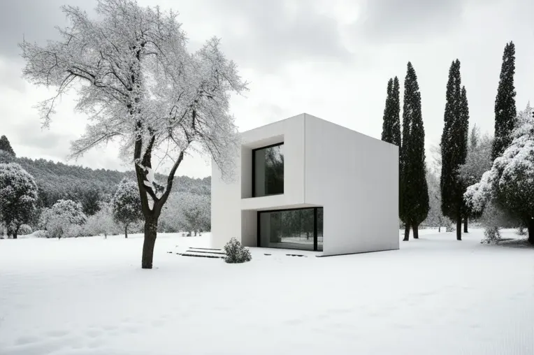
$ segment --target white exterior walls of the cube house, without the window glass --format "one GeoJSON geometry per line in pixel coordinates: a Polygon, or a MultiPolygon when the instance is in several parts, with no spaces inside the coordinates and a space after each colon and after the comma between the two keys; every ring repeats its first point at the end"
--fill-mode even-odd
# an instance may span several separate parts
{"type": "Polygon", "coordinates": [[[212,168],[212,247],[257,246],[257,211],[324,207],[324,255],[398,249],[398,148],[302,114],[242,133],[235,181],[212,168]],[[252,150],[284,142],[284,194],[252,198],[252,150]]]}

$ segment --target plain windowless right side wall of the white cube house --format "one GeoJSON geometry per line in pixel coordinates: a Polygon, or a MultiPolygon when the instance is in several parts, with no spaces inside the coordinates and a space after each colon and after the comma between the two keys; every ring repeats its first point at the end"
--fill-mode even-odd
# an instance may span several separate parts
{"type": "Polygon", "coordinates": [[[305,202],[324,206],[323,255],[398,249],[398,147],[306,115],[305,202]]]}

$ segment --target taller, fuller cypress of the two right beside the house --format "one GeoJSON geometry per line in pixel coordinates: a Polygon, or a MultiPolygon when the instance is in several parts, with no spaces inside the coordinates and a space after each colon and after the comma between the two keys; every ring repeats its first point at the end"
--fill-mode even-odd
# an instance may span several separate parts
{"type": "Polygon", "coordinates": [[[404,82],[403,137],[401,145],[399,212],[405,224],[404,240],[419,238],[419,224],[426,219],[430,205],[426,182],[424,126],[421,92],[412,63],[407,64],[404,82]]]}

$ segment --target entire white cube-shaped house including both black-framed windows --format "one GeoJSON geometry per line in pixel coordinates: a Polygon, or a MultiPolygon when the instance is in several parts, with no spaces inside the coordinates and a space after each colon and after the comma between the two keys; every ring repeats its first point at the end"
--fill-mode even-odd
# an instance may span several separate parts
{"type": "Polygon", "coordinates": [[[305,113],[241,134],[236,179],[212,164],[212,247],[398,249],[396,145],[305,113]]]}

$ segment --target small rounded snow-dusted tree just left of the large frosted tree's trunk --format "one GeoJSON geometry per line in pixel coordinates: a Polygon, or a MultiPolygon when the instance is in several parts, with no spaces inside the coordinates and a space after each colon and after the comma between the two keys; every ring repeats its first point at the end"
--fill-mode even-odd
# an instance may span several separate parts
{"type": "Polygon", "coordinates": [[[141,198],[137,182],[122,180],[111,201],[113,219],[122,224],[124,237],[128,238],[128,227],[143,219],[141,210],[141,198]]]}

